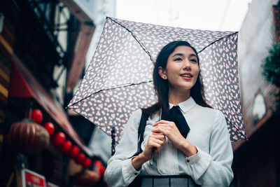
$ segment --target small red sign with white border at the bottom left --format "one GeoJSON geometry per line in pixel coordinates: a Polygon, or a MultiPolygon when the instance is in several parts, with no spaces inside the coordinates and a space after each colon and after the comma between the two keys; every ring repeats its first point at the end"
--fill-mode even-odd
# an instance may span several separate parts
{"type": "Polygon", "coordinates": [[[45,176],[22,169],[22,186],[23,187],[45,187],[45,176]]]}

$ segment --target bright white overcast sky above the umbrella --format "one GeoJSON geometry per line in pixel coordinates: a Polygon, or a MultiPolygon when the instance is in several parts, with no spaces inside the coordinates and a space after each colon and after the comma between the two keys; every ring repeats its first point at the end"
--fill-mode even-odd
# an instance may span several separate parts
{"type": "Polygon", "coordinates": [[[116,18],[188,29],[239,31],[251,0],[116,0],[116,18]]]}

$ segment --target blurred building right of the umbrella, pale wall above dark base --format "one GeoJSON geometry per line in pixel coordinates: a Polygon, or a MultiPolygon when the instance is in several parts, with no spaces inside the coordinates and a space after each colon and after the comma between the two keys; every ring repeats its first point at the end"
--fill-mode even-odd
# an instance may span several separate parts
{"type": "Polygon", "coordinates": [[[279,88],[262,76],[265,57],[279,42],[279,12],[278,0],[253,0],[239,32],[239,81],[248,141],[232,144],[232,186],[280,186],[280,118],[272,111],[279,88]]]}

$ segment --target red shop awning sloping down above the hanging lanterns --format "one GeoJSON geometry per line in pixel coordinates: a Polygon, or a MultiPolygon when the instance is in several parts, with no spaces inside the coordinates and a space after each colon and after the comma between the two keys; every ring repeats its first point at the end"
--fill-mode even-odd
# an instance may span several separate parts
{"type": "Polygon", "coordinates": [[[18,57],[13,55],[12,62],[9,97],[34,98],[52,120],[72,139],[73,143],[79,146],[80,150],[88,156],[92,156],[92,151],[83,144],[83,141],[73,129],[61,104],[48,95],[48,92],[36,81],[18,57]]]}

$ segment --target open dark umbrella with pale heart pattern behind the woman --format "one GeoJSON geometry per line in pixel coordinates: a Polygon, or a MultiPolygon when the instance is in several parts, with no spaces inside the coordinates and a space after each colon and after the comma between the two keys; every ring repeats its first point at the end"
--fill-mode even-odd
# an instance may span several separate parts
{"type": "Polygon", "coordinates": [[[68,108],[116,142],[132,111],[157,101],[153,64],[163,46],[188,41],[197,49],[207,101],[225,114],[230,139],[246,139],[239,95],[238,32],[183,29],[106,18],[90,65],[68,108]]]}

